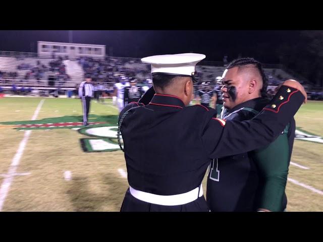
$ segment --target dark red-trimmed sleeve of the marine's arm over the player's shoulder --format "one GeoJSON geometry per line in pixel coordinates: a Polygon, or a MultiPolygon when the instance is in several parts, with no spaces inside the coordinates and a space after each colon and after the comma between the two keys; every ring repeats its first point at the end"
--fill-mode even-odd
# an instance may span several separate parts
{"type": "Polygon", "coordinates": [[[239,122],[211,117],[201,135],[210,158],[248,152],[273,142],[304,101],[297,89],[282,86],[273,100],[253,119],[239,122]]]}

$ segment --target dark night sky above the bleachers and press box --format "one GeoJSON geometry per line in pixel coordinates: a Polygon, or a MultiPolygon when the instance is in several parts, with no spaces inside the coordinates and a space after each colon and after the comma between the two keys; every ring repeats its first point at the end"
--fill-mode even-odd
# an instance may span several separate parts
{"type": "MultiPolygon", "coordinates": [[[[206,54],[206,61],[222,61],[250,56],[262,63],[279,62],[277,47],[293,44],[299,31],[256,30],[76,30],[73,42],[104,44],[114,56],[145,57],[155,54],[196,52],[206,54]]],[[[37,41],[68,42],[67,30],[13,30],[0,31],[0,50],[36,52],[37,41]]]]}

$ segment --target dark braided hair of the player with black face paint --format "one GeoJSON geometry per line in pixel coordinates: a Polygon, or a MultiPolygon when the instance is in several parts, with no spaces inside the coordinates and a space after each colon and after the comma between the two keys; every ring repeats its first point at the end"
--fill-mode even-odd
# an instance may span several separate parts
{"type": "Polygon", "coordinates": [[[268,95],[267,95],[267,86],[268,86],[267,76],[264,73],[264,70],[262,69],[261,63],[256,61],[254,58],[243,57],[243,58],[235,59],[226,67],[226,69],[231,69],[234,67],[241,67],[241,66],[246,66],[246,65],[254,65],[254,67],[257,68],[257,70],[259,71],[261,78],[262,78],[262,88],[260,90],[260,95],[261,95],[261,97],[268,97],[268,95]]]}

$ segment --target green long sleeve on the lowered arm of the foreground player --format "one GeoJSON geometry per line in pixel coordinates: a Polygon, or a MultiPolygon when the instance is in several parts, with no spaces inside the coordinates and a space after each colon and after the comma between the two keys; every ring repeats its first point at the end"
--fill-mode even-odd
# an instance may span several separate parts
{"type": "Polygon", "coordinates": [[[273,212],[283,211],[282,202],[287,183],[289,166],[289,143],[286,133],[281,134],[266,148],[252,152],[259,169],[257,208],[273,212]]]}

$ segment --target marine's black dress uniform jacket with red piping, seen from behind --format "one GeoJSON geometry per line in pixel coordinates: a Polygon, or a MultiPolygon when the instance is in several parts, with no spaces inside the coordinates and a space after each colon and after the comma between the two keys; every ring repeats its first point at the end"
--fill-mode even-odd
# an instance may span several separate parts
{"type": "MultiPolygon", "coordinates": [[[[297,89],[282,86],[255,118],[225,122],[216,118],[216,110],[201,105],[186,107],[176,96],[155,94],[148,104],[151,93],[148,90],[143,96],[144,103],[128,104],[120,117],[127,111],[121,133],[129,185],[156,195],[177,195],[196,189],[211,159],[270,144],[304,100],[297,89]]],[[[203,196],[184,205],[164,206],[140,201],[128,189],[121,211],[209,209],[203,196]]]]}

